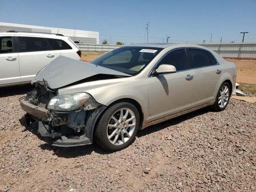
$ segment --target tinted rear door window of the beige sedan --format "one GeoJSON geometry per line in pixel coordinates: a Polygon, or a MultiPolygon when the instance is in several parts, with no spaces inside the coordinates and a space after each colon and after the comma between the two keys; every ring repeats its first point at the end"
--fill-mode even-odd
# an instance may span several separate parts
{"type": "Polygon", "coordinates": [[[211,61],[208,51],[201,49],[187,49],[190,68],[210,66],[211,61]]]}

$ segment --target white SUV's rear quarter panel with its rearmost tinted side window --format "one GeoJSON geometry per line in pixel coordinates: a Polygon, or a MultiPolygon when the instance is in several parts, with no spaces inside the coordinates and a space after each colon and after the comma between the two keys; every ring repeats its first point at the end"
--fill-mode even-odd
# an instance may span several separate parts
{"type": "Polygon", "coordinates": [[[76,53],[79,50],[76,46],[73,45],[74,48],[72,48],[66,41],[61,39],[47,38],[47,40],[55,50],[57,56],[62,55],[76,60],[81,59],[80,56],[76,53]]]}

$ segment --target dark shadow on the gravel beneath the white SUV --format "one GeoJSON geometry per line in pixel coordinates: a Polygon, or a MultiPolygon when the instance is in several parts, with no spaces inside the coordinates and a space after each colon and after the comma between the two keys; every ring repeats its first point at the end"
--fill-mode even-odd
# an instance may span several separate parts
{"type": "Polygon", "coordinates": [[[14,95],[22,95],[31,91],[34,86],[31,84],[19,85],[19,86],[10,86],[10,87],[0,87],[0,98],[14,96],[14,95]]]}

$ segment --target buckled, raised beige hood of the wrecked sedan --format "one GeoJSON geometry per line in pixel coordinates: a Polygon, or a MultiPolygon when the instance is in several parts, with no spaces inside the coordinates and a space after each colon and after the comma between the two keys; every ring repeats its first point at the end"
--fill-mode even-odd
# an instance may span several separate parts
{"type": "Polygon", "coordinates": [[[35,82],[57,89],[98,74],[131,76],[102,66],[58,56],[36,74],[35,82]]]}

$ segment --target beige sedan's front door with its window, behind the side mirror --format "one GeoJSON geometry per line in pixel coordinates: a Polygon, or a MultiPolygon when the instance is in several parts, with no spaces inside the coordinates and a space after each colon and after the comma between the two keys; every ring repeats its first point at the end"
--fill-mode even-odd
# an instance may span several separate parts
{"type": "MultiPolygon", "coordinates": [[[[186,76],[194,75],[188,70],[188,59],[185,49],[173,50],[158,63],[176,67],[176,73],[151,76],[148,78],[149,118],[153,121],[191,108],[194,82],[186,76]]],[[[156,68],[158,68],[156,66],[156,68]]]]}

